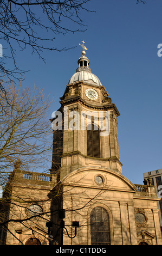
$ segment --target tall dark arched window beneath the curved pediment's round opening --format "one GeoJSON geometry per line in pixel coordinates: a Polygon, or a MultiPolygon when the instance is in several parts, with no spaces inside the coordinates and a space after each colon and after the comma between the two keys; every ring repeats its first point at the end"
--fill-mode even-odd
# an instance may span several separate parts
{"type": "Polygon", "coordinates": [[[111,245],[108,212],[102,207],[95,207],[90,214],[91,245],[111,245]]]}

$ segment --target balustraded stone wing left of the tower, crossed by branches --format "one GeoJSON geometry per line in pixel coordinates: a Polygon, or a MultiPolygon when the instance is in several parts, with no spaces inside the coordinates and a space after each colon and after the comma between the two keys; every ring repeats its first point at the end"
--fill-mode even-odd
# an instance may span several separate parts
{"type": "Polygon", "coordinates": [[[2,245],[25,245],[32,237],[36,237],[41,245],[49,244],[46,222],[50,219],[50,200],[47,195],[56,182],[55,178],[50,174],[14,170],[6,188],[10,193],[10,202],[7,200],[6,203],[5,196],[0,202],[1,212],[5,215],[2,222],[9,220],[9,231],[2,227],[2,245]],[[40,206],[42,214],[33,217],[30,214],[31,205],[40,206]]]}

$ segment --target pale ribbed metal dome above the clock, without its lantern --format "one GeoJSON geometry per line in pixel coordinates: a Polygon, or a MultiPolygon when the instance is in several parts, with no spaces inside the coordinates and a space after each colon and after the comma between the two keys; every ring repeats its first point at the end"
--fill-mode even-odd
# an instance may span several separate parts
{"type": "Polygon", "coordinates": [[[102,86],[99,78],[92,74],[88,70],[82,70],[82,71],[77,71],[69,80],[68,84],[70,83],[76,83],[79,81],[86,82],[88,84],[96,85],[96,86],[102,86]]]}

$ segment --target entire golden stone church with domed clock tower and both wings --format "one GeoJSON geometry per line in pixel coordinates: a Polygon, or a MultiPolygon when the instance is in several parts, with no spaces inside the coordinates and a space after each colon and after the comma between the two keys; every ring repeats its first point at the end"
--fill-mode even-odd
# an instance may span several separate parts
{"type": "Polygon", "coordinates": [[[23,172],[17,163],[10,175],[2,245],[162,244],[159,198],[150,179],[137,185],[122,175],[120,113],[82,48],[51,119],[50,174],[23,172]]]}

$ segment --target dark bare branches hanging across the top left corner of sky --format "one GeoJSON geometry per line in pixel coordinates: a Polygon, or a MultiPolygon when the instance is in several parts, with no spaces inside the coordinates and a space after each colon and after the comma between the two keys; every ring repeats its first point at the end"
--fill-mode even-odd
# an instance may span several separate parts
{"type": "MultiPolygon", "coordinates": [[[[90,0],[22,0],[0,1],[0,39],[5,41],[10,55],[3,54],[0,62],[1,77],[6,75],[10,80],[24,76],[16,62],[16,50],[29,48],[43,61],[43,51],[67,51],[70,47],[54,46],[59,34],[85,31],[80,11],[86,9],[90,0]],[[44,37],[42,36],[44,35],[44,37]],[[4,59],[11,59],[13,69],[6,67],[4,59]]],[[[3,41],[2,41],[3,42],[3,41]]]]}

